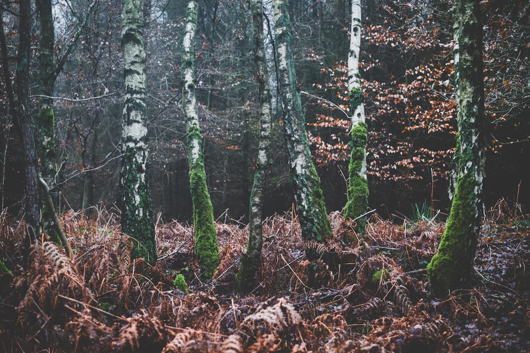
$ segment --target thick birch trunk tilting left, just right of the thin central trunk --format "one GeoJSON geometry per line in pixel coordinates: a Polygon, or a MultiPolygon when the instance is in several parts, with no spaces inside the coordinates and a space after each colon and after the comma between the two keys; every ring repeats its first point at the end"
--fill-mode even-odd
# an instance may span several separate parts
{"type": "Polygon", "coordinates": [[[284,117],[282,125],[287,141],[302,237],[307,241],[325,243],[326,238],[331,235],[331,226],[320,188],[320,178],[311,160],[305,131],[305,116],[302,112],[291,48],[293,34],[289,20],[289,5],[287,0],[273,0],[273,6],[279,87],[284,117]]]}

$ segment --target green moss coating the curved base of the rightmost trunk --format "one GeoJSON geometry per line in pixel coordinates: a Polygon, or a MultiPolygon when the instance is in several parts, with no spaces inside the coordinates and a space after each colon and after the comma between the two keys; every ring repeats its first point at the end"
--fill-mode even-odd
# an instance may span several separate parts
{"type": "Polygon", "coordinates": [[[472,176],[458,178],[451,213],[438,251],[427,265],[430,288],[437,296],[462,288],[469,277],[476,246],[476,185],[472,176]]]}

